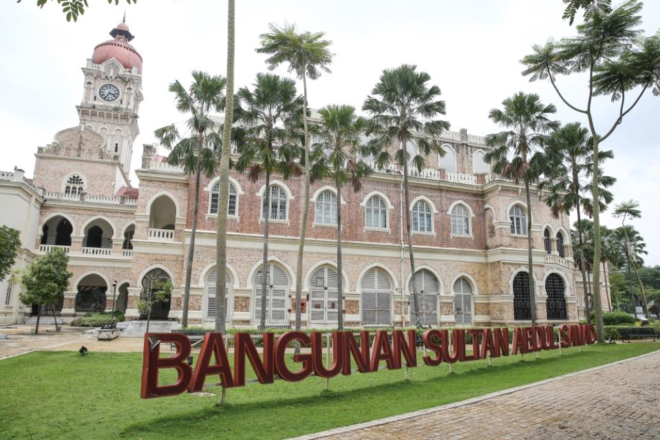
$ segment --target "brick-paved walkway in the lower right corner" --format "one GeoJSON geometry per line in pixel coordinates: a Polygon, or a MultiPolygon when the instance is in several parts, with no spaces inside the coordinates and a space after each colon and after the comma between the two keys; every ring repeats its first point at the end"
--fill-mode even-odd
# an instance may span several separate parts
{"type": "Polygon", "coordinates": [[[496,397],[298,439],[660,439],[659,377],[660,352],[655,352],[496,397]]]}

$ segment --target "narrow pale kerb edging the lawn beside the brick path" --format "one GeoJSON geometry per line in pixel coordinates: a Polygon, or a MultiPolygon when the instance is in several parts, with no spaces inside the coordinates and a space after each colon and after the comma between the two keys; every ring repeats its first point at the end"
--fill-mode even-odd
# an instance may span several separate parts
{"type": "Polygon", "coordinates": [[[457,401],[457,402],[454,402],[452,404],[434,406],[432,408],[426,408],[425,410],[405,412],[404,414],[385,417],[383,419],[376,419],[376,420],[365,421],[365,422],[362,422],[362,423],[355,423],[353,425],[342,426],[342,427],[339,427],[339,428],[333,428],[331,430],[315,432],[315,433],[312,433],[312,434],[304,434],[304,435],[301,435],[299,437],[291,437],[288,440],[322,439],[323,437],[328,437],[330,435],[344,434],[346,432],[352,432],[352,431],[363,429],[363,428],[373,428],[374,426],[381,426],[381,425],[385,425],[387,423],[392,423],[394,421],[412,419],[413,417],[428,415],[428,414],[432,414],[434,412],[449,410],[451,408],[458,408],[460,406],[467,406],[467,405],[471,405],[471,404],[476,404],[480,401],[491,399],[493,397],[509,395],[513,392],[520,391],[520,390],[526,390],[527,388],[531,388],[533,386],[549,384],[551,382],[558,381],[558,380],[561,380],[561,379],[565,379],[567,377],[582,375],[584,373],[590,373],[592,371],[602,370],[603,368],[609,368],[611,366],[615,366],[615,365],[619,365],[619,364],[625,364],[626,362],[632,362],[632,361],[635,361],[637,359],[641,359],[642,357],[652,356],[652,355],[656,355],[658,353],[660,353],[660,349],[653,350],[649,353],[644,353],[643,355],[637,355],[635,357],[628,357],[626,359],[621,359],[621,360],[618,360],[618,361],[615,361],[615,362],[610,362],[609,364],[603,364],[603,365],[599,365],[599,366],[595,366],[595,367],[591,367],[591,368],[586,368],[586,370],[579,370],[579,371],[575,371],[573,373],[566,373],[565,375],[561,375],[561,376],[550,377],[549,379],[543,379],[541,381],[532,382],[531,384],[515,386],[513,388],[507,388],[505,390],[491,392],[489,394],[478,396],[478,397],[471,397],[470,399],[457,401]]]}

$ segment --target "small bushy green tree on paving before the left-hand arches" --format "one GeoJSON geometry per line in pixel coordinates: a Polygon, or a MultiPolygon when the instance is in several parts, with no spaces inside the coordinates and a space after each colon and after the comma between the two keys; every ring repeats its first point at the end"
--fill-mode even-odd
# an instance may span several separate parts
{"type": "Polygon", "coordinates": [[[21,302],[37,306],[35,335],[39,333],[41,309],[61,302],[69,287],[69,279],[73,274],[67,270],[68,265],[69,255],[63,249],[56,248],[28,266],[21,276],[21,302]]]}

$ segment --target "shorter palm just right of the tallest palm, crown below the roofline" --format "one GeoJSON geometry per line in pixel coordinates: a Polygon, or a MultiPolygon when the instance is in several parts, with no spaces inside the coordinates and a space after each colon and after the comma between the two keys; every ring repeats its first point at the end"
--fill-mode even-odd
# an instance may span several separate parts
{"type": "Polygon", "coordinates": [[[365,147],[360,145],[367,121],[355,114],[350,105],[328,105],[319,110],[321,122],[316,136],[312,157],[315,158],[313,174],[329,178],[337,189],[337,327],[343,330],[343,279],[341,262],[341,187],[350,184],[353,191],[362,188],[362,179],[372,173],[362,157],[365,147]]]}

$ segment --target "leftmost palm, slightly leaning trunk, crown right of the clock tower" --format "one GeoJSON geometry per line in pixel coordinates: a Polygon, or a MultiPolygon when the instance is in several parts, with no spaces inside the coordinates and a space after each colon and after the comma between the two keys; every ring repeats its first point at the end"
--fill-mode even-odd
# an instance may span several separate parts
{"type": "Polygon", "coordinates": [[[193,83],[189,90],[175,81],[169,85],[169,91],[175,95],[176,108],[190,117],[185,122],[182,134],[176,125],[171,124],[157,129],[154,134],[170,154],[167,162],[182,165],[189,176],[195,176],[195,200],[193,205],[193,224],[186,264],[186,282],[183,292],[183,315],[181,324],[188,326],[188,306],[190,301],[190,279],[197,233],[197,215],[200,207],[200,176],[213,176],[217,163],[217,149],[220,136],[213,131],[214,123],[211,112],[224,109],[223,90],[226,78],[222,75],[210,75],[206,72],[193,71],[193,83]]]}

